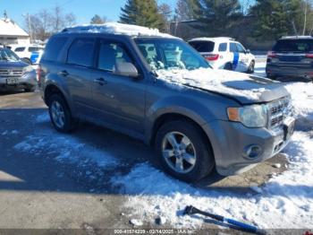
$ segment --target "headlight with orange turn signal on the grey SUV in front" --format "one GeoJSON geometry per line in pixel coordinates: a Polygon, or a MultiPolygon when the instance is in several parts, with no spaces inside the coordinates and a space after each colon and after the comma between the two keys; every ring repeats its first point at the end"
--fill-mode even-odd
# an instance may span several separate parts
{"type": "Polygon", "coordinates": [[[241,122],[247,127],[264,127],[267,123],[267,106],[251,105],[241,108],[228,108],[229,120],[241,122]]]}

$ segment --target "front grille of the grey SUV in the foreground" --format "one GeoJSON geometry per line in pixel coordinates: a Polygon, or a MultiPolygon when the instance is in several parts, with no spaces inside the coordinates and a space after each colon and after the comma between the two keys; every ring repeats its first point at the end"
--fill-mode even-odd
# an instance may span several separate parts
{"type": "Polygon", "coordinates": [[[292,104],[288,97],[269,103],[269,128],[283,126],[286,117],[292,116],[292,104]]]}

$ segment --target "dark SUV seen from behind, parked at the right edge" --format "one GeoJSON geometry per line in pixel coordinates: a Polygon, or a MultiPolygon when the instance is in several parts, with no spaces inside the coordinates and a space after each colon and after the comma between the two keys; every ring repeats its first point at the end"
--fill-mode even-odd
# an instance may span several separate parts
{"type": "Polygon", "coordinates": [[[277,40],[267,54],[266,76],[313,79],[313,37],[292,36],[277,40]]]}

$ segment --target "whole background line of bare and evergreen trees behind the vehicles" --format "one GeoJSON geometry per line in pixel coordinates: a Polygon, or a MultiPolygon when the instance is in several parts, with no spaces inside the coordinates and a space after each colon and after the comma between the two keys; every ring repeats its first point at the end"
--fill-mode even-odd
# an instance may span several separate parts
{"type": "MultiPolygon", "coordinates": [[[[170,31],[171,22],[186,21],[200,22],[199,30],[211,37],[224,35],[238,24],[249,27],[249,37],[259,40],[311,35],[313,0],[177,0],[174,9],[157,0],[127,0],[119,17],[119,22],[165,32],[170,31]]],[[[90,19],[90,23],[104,22],[106,17],[98,14],[90,19]]],[[[75,23],[75,15],[64,13],[60,6],[25,15],[25,28],[32,39],[45,40],[75,23]]]]}

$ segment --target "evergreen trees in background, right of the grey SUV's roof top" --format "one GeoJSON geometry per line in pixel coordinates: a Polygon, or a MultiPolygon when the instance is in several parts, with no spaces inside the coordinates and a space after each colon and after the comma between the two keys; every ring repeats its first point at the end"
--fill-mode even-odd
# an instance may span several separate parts
{"type": "Polygon", "coordinates": [[[120,21],[159,30],[167,30],[169,22],[198,21],[199,30],[212,37],[224,35],[236,23],[249,26],[254,39],[313,33],[311,0],[177,0],[173,14],[170,12],[169,5],[157,5],[156,0],[128,0],[120,21]]]}

